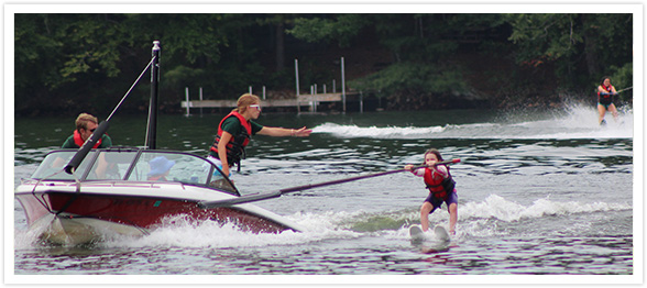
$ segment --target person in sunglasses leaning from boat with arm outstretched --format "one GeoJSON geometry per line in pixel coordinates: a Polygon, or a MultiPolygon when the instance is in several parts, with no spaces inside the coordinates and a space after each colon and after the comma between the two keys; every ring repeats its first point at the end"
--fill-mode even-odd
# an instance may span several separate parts
{"type": "Polygon", "coordinates": [[[305,126],[300,129],[270,128],[252,121],[261,115],[261,99],[255,95],[242,95],[238,99],[237,107],[218,124],[218,134],[209,149],[208,159],[221,168],[224,175],[231,175],[229,168],[234,164],[238,164],[240,169],[240,160],[245,157],[244,148],[252,135],[305,137],[312,132],[305,126]]]}

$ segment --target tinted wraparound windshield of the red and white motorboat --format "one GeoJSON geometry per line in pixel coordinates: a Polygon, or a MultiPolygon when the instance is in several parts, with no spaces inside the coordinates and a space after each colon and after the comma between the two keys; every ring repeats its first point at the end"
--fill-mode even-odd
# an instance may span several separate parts
{"type": "Polygon", "coordinates": [[[33,179],[173,181],[207,186],[240,196],[233,184],[206,158],[182,152],[146,149],[94,149],[74,175],[63,168],[77,151],[50,153],[33,179]]]}

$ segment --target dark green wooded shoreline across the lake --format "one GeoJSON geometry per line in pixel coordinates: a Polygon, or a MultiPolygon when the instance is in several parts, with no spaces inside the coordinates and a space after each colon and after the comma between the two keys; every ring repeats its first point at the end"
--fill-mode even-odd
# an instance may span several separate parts
{"type": "MultiPolygon", "coordinates": [[[[17,115],[105,114],[149,63],[154,40],[162,43],[160,101],[169,112],[179,110],[185,87],[202,87],[209,99],[235,99],[249,86],[294,97],[294,59],[301,93],[339,84],[346,57],[347,87],[387,99],[390,109],[550,106],[593,99],[603,76],[618,89],[633,85],[634,19],[623,13],[14,19],[17,115]]],[[[149,89],[138,86],[124,109],[146,111],[149,89]]],[[[622,97],[630,102],[630,91],[622,97]]]]}

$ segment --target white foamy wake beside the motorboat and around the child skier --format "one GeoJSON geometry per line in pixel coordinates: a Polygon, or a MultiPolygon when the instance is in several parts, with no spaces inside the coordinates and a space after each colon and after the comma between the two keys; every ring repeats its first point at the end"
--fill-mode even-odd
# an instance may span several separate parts
{"type": "MultiPolygon", "coordinates": [[[[590,218],[591,213],[608,211],[630,211],[627,203],[606,202],[562,202],[549,198],[538,199],[529,206],[509,201],[501,196],[491,195],[483,201],[467,202],[459,208],[460,219],[457,236],[481,237],[508,235],[506,224],[518,221],[541,222],[553,217],[590,218]]],[[[303,233],[284,231],[279,234],[251,233],[233,224],[220,224],[215,221],[196,223],[182,217],[167,219],[165,224],[143,237],[117,237],[100,243],[103,248],[117,247],[200,247],[200,248],[240,248],[262,247],[266,245],[297,245],[327,240],[382,236],[395,241],[408,240],[408,226],[419,222],[417,207],[385,212],[298,212],[286,215],[287,219],[306,228],[303,233]]],[[[429,217],[432,224],[447,225],[449,214],[441,209],[429,217]]],[[[548,229],[548,228],[546,228],[548,229]]],[[[24,236],[24,234],[23,234],[24,236]]],[[[18,240],[18,239],[17,239],[18,240]]],[[[17,241],[18,242],[18,241],[17,241]]]]}

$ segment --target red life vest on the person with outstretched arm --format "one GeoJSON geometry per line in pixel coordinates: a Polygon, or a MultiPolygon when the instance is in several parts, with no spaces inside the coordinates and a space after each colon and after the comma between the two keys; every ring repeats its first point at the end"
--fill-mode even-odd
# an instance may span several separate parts
{"type": "Polygon", "coordinates": [[[224,123],[224,120],[227,120],[230,117],[235,117],[238,118],[238,120],[240,121],[240,124],[244,128],[244,130],[242,131],[242,133],[240,135],[232,135],[231,140],[229,141],[229,143],[227,143],[227,163],[229,164],[229,167],[233,166],[233,164],[238,164],[238,167],[240,169],[240,160],[241,158],[244,159],[245,157],[245,146],[250,143],[250,139],[252,137],[252,123],[250,123],[250,121],[248,121],[241,113],[237,112],[237,111],[232,111],[231,113],[229,113],[227,117],[224,117],[222,119],[222,121],[220,121],[220,124],[218,124],[218,135],[216,135],[216,140],[213,141],[213,144],[211,145],[211,151],[216,152],[216,154],[218,155],[218,143],[220,142],[220,139],[222,137],[222,123],[224,123]]]}

